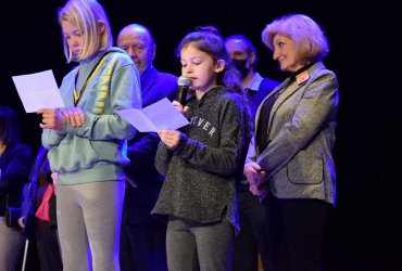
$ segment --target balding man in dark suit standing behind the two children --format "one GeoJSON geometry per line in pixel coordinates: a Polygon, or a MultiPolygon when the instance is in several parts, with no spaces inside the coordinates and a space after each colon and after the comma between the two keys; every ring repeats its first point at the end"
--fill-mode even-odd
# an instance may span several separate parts
{"type": "MultiPolygon", "coordinates": [[[[160,73],[152,62],[156,46],[150,30],[138,24],[124,27],[117,46],[125,50],[140,74],[142,107],[163,98],[175,100],[177,77],[160,73]]],[[[122,271],[163,271],[166,267],[166,223],[154,219],[152,210],[164,177],[154,167],[160,142],[158,133],[137,132],[128,142],[127,188],[123,207],[120,261],[122,271]]]]}

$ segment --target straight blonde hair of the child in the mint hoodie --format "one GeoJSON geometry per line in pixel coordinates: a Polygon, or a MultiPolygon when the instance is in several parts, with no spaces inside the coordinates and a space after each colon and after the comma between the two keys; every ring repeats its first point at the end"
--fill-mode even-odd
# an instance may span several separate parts
{"type": "Polygon", "coordinates": [[[64,55],[67,63],[88,59],[99,51],[108,50],[113,46],[112,30],[103,7],[96,0],[70,0],[59,10],[59,24],[63,21],[78,27],[83,35],[83,50],[76,60],[68,48],[63,35],[64,55]],[[104,25],[103,34],[100,26],[104,25]]]}

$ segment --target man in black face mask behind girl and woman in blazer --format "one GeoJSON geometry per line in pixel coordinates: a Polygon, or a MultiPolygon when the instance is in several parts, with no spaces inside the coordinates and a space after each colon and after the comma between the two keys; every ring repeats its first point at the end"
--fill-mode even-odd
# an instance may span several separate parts
{"type": "MultiPolygon", "coordinates": [[[[241,74],[241,85],[249,99],[249,105],[254,118],[256,109],[263,99],[279,83],[263,78],[256,70],[256,53],[251,41],[241,35],[234,35],[225,40],[226,51],[229,53],[236,68],[241,74]]],[[[269,270],[269,254],[267,244],[267,225],[265,211],[259,198],[250,192],[250,186],[243,178],[239,190],[239,218],[241,232],[235,240],[233,270],[257,270],[260,253],[264,270],[269,270]]]]}

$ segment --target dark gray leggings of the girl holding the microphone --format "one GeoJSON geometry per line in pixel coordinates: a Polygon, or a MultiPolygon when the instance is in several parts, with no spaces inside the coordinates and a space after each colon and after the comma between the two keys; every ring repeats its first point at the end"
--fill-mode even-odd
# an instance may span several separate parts
{"type": "Polygon", "coordinates": [[[189,219],[169,218],[166,232],[169,271],[228,271],[235,238],[234,227],[226,219],[200,223],[189,219]]]}

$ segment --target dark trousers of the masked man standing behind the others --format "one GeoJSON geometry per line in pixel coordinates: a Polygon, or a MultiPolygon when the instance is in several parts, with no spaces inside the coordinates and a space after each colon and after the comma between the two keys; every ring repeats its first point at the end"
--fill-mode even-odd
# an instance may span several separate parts
{"type": "Polygon", "coordinates": [[[255,271],[260,253],[264,270],[268,271],[268,229],[264,207],[249,191],[249,185],[239,192],[240,233],[234,243],[233,271],[255,271]]]}

